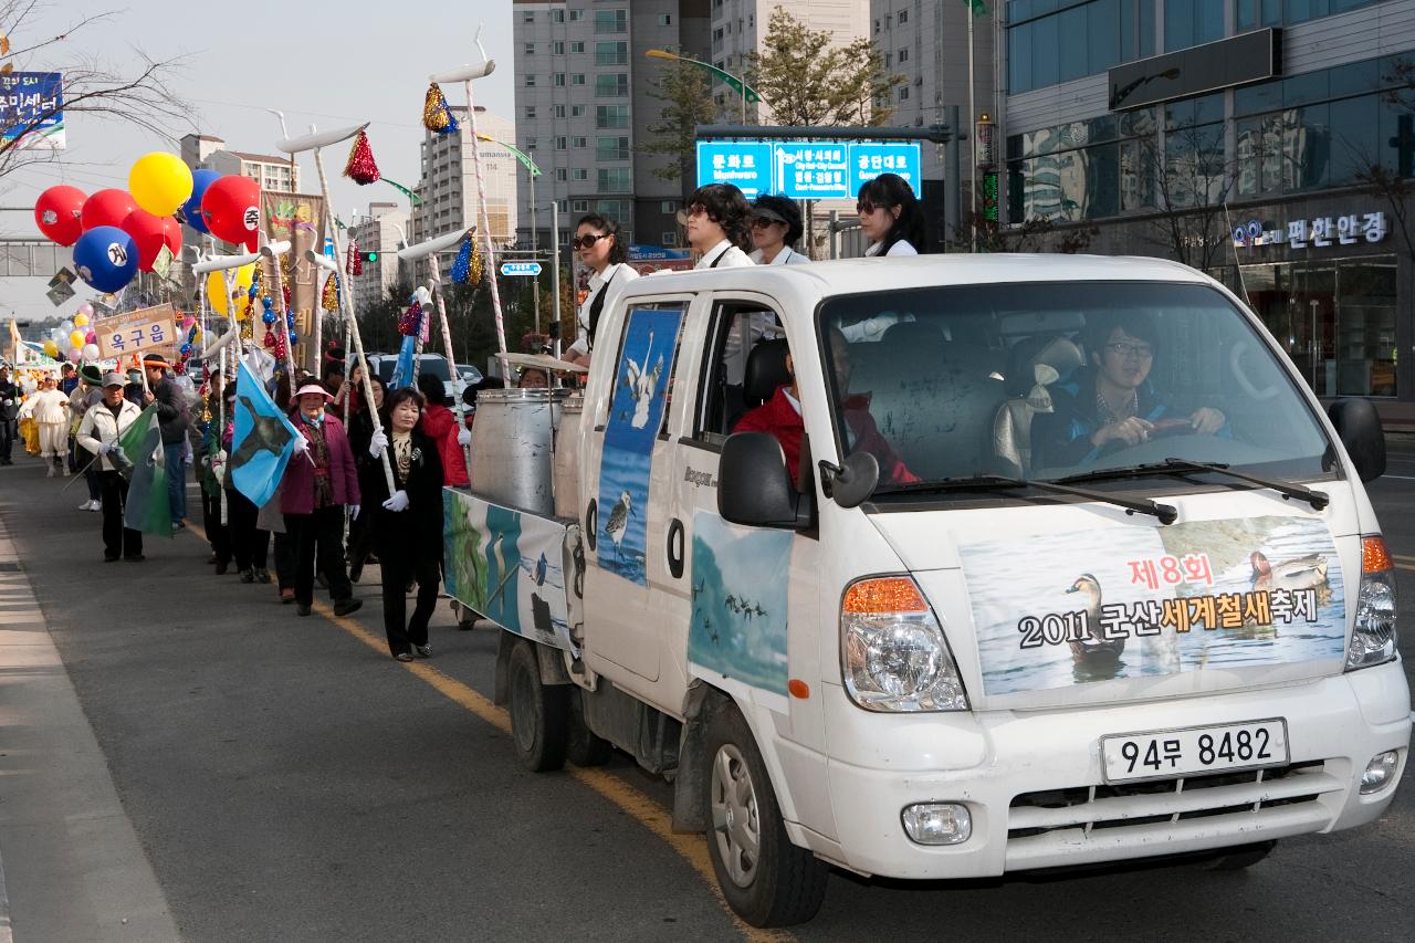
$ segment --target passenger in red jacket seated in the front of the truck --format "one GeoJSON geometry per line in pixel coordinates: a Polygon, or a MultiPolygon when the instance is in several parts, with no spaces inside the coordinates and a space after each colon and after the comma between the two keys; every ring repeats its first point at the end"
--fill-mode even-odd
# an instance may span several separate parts
{"type": "MultiPolygon", "coordinates": [[[[832,331],[832,357],[835,360],[835,379],[841,389],[850,388],[850,358],[843,336],[832,331]]],[[[801,464],[801,438],[805,435],[805,423],[801,421],[801,395],[795,384],[795,365],[791,354],[787,354],[787,370],[791,372],[791,382],[777,387],[771,399],[750,411],[733,432],[770,432],[781,443],[781,450],[787,456],[787,471],[791,481],[799,481],[797,476],[801,464]]],[[[910,471],[904,462],[894,453],[890,443],[874,425],[870,415],[870,395],[856,394],[846,396],[841,405],[845,425],[849,428],[849,452],[869,452],[880,463],[880,483],[903,484],[918,481],[918,476],[910,471]]]]}

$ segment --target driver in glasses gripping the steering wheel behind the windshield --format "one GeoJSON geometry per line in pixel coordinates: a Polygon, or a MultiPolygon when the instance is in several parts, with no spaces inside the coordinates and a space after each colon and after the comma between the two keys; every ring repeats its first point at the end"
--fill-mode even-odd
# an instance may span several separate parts
{"type": "Polygon", "coordinates": [[[1085,345],[1091,362],[1051,388],[1054,411],[1032,421],[1033,466],[1084,464],[1159,435],[1214,435],[1224,413],[1200,406],[1174,412],[1149,381],[1159,351],[1155,323],[1142,313],[1099,314],[1090,320],[1085,345]]]}

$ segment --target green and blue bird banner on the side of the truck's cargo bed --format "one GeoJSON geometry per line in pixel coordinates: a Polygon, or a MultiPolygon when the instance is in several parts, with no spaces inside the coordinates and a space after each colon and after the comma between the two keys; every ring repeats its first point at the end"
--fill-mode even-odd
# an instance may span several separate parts
{"type": "Polygon", "coordinates": [[[507,631],[577,651],[569,595],[579,595],[579,527],[443,488],[443,582],[447,595],[507,631]],[[569,573],[569,581],[566,581],[569,573]]]}

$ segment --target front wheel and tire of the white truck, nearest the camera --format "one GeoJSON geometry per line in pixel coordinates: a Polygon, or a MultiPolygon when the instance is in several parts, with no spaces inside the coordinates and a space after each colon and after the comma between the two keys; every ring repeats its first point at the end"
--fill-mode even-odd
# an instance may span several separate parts
{"type": "Polygon", "coordinates": [[[790,926],[815,916],[829,869],[791,844],[761,752],[736,705],[724,705],[705,738],[708,854],[722,895],[753,926],[790,926]]]}

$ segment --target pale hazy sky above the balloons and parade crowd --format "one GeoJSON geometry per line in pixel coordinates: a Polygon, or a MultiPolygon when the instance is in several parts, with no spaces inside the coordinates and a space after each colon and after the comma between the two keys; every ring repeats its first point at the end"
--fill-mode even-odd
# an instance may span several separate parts
{"type": "MultiPolygon", "coordinates": [[[[505,118],[514,113],[509,0],[74,0],[41,7],[20,28],[3,25],[11,31],[14,48],[24,48],[108,11],[112,18],[106,23],[17,59],[16,69],[57,71],[99,55],[130,75],[137,68],[133,50],[153,59],[181,58],[171,85],[192,112],[190,126],[175,127],[174,137],[195,132],[224,139],[231,150],[277,153],[283,135],[267,108],[284,112],[291,136],[308,133],[311,123],[328,130],[369,120],[379,170],[412,187],[419,173],[427,76],[480,62],[473,40],[483,24],[483,45],[497,71],[477,81],[477,103],[505,118]]],[[[464,103],[460,84],[443,91],[453,105],[464,103]]],[[[65,125],[68,149],[55,163],[0,180],[0,205],[33,207],[45,187],[58,183],[85,193],[126,190],[127,170],[139,157],[153,150],[177,153],[175,140],[164,142],[130,125],[85,115],[68,116],[65,125]]],[[[358,187],[340,177],[347,157],[347,144],[324,153],[340,217],[352,210],[365,212],[369,201],[403,200],[382,183],[358,187]]],[[[300,180],[301,190],[318,193],[310,154],[300,157],[300,180]]],[[[0,236],[42,238],[33,214],[10,211],[0,212],[0,236]]]]}

